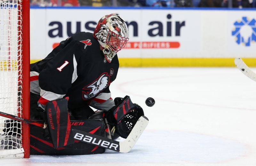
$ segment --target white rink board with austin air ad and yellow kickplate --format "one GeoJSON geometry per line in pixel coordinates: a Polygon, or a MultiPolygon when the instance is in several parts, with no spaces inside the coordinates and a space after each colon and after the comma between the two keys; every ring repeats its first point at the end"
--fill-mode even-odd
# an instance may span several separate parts
{"type": "Polygon", "coordinates": [[[236,57],[255,58],[256,10],[58,7],[31,8],[31,59],[44,59],[76,32],[93,32],[113,12],[130,31],[120,66],[232,66],[236,57]]]}

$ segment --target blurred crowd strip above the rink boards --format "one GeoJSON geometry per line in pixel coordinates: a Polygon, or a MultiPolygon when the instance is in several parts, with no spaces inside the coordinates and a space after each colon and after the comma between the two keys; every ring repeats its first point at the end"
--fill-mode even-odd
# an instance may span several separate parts
{"type": "Polygon", "coordinates": [[[256,7],[256,0],[30,0],[31,6],[256,7]]]}

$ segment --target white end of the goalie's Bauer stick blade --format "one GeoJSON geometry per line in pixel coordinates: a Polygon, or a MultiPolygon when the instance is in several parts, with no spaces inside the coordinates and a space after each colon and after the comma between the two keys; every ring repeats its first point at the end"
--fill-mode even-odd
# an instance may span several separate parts
{"type": "Polygon", "coordinates": [[[132,149],[132,147],[135,145],[135,143],[140,138],[142,132],[145,130],[145,128],[148,125],[148,118],[146,116],[141,116],[134,127],[132,128],[131,133],[128,135],[128,137],[123,141],[120,142],[120,153],[128,153],[132,149]]]}

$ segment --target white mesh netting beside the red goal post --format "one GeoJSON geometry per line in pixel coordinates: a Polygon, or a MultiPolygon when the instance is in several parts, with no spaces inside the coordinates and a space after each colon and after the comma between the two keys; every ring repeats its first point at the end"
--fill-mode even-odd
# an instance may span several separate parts
{"type": "MultiPolygon", "coordinates": [[[[0,111],[18,116],[22,114],[20,4],[0,0],[0,111]]],[[[0,155],[12,149],[22,149],[20,122],[0,116],[0,155]]]]}

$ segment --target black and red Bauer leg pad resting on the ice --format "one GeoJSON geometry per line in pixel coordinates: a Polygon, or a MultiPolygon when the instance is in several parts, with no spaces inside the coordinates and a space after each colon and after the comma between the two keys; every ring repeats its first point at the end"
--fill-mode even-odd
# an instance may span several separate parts
{"type": "MultiPolygon", "coordinates": [[[[95,135],[105,137],[105,123],[102,119],[87,119],[70,121],[71,129],[81,130],[95,135]]],[[[47,130],[47,129],[45,129],[47,130]]],[[[85,155],[100,154],[105,148],[75,141],[74,144],[55,149],[50,136],[43,136],[44,129],[30,126],[30,154],[36,155],[85,155]]]]}

